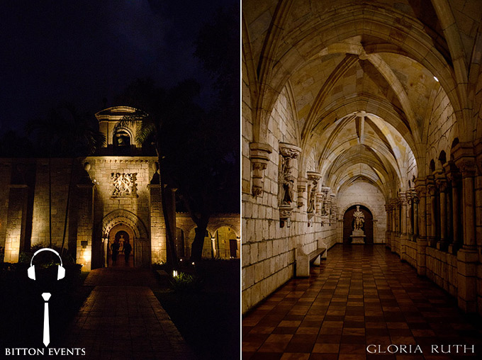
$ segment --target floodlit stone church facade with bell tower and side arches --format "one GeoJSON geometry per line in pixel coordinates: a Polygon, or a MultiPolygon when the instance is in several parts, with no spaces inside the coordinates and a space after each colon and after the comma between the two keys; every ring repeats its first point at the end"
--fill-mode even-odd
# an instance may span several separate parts
{"type": "MultiPolygon", "coordinates": [[[[133,266],[166,260],[164,217],[157,157],[137,145],[135,126],[114,132],[134,108],[118,106],[96,114],[107,143],[82,159],[0,159],[0,247],[4,261],[16,262],[30,245],[49,242],[48,174],[52,178],[52,244],[60,247],[66,198],[73,171],[65,246],[83,271],[108,266],[114,240],[130,240],[133,266]]],[[[186,172],[186,176],[188,176],[186,172]]],[[[174,198],[174,193],[172,194],[174,198]]],[[[196,225],[186,213],[173,217],[176,252],[189,257],[196,225]]],[[[239,214],[211,218],[203,257],[229,259],[240,254],[239,214]]]]}

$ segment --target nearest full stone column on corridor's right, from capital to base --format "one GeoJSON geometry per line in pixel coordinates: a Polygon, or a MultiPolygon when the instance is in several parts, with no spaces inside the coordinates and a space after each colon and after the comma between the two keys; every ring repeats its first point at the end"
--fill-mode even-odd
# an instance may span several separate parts
{"type": "Polygon", "coordinates": [[[474,176],[475,158],[471,143],[459,143],[452,150],[454,161],[462,176],[462,218],[464,246],[457,252],[457,298],[459,308],[474,313],[477,308],[476,248],[474,176]]]}

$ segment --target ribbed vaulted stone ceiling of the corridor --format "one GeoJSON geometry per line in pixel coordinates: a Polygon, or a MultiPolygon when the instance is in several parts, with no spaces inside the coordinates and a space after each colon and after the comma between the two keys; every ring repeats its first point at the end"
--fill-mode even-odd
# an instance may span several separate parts
{"type": "Polygon", "coordinates": [[[301,169],[336,192],[368,181],[389,198],[437,134],[477,130],[480,1],[247,0],[242,15],[254,140],[288,89],[301,169]]]}

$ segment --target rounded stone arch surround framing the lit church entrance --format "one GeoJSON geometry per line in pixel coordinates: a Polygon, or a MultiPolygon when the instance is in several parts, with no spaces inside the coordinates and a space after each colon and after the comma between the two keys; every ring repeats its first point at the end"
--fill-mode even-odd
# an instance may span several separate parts
{"type": "Polygon", "coordinates": [[[115,236],[113,232],[117,232],[118,230],[124,230],[130,233],[132,236],[132,241],[130,243],[133,246],[133,265],[135,267],[150,266],[150,237],[147,232],[147,228],[137,215],[123,209],[113,210],[102,219],[101,234],[103,242],[102,257],[104,266],[107,266],[108,264],[107,256],[109,253],[109,238],[111,235],[115,236]]]}

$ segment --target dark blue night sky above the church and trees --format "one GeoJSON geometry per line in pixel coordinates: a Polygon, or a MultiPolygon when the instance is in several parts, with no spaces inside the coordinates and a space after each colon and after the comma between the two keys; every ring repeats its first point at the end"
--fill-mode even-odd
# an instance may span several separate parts
{"type": "Polygon", "coordinates": [[[239,0],[6,0],[0,10],[0,133],[60,101],[96,113],[138,78],[211,80],[193,56],[203,23],[239,0]]]}

